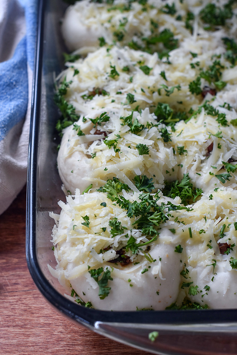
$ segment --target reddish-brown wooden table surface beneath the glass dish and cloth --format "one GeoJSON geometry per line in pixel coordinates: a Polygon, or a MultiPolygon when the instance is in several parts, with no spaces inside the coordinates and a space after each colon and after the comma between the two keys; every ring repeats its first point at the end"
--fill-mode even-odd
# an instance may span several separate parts
{"type": "Polygon", "coordinates": [[[0,216],[1,355],[148,355],[58,314],[29,274],[25,243],[26,187],[0,216]]]}

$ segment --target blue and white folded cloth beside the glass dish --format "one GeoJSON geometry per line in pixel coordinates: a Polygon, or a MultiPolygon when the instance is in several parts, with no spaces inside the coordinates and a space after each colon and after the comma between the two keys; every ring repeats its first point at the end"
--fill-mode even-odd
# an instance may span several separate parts
{"type": "Polygon", "coordinates": [[[35,0],[0,0],[0,214],[27,180],[35,0]]]}

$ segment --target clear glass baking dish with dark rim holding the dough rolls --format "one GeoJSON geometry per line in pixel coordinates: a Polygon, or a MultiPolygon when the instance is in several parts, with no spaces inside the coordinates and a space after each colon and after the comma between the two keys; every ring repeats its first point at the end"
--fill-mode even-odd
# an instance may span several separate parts
{"type": "Polygon", "coordinates": [[[65,9],[60,0],[39,0],[27,188],[26,254],[32,278],[63,315],[118,342],[154,354],[236,354],[237,310],[94,310],[66,299],[65,290],[49,273],[47,264],[56,264],[49,211],[60,213],[57,202],[66,200],[56,166],[59,113],[53,99],[55,76],[63,68],[66,50],[60,37],[65,9]],[[151,341],[149,334],[154,331],[159,335],[151,341]]]}

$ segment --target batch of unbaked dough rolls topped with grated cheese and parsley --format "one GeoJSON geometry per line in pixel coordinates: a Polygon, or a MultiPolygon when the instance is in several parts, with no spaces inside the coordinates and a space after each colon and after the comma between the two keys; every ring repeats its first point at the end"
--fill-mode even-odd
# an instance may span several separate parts
{"type": "Polygon", "coordinates": [[[68,7],[49,269],[69,299],[236,308],[236,33],[235,1],[68,7]]]}

